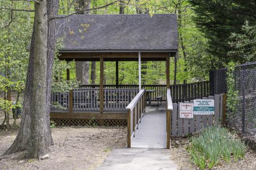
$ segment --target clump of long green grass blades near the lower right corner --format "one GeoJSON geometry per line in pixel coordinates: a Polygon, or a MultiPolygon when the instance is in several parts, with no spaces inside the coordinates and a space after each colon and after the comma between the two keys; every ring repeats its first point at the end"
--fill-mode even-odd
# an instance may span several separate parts
{"type": "Polygon", "coordinates": [[[226,162],[243,159],[246,145],[235,139],[226,128],[213,126],[204,128],[198,137],[193,137],[188,151],[191,159],[200,169],[212,169],[220,160],[226,162]]]}

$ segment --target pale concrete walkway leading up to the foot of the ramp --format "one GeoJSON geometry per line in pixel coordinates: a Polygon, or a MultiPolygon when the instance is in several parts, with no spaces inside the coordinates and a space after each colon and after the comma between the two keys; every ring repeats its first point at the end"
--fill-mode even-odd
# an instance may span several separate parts
{"type": "Polygon", "coordinates": [[[174,170],[170,150],[125,148],[111,151],[104,163],[95,170],[174,170]]]}

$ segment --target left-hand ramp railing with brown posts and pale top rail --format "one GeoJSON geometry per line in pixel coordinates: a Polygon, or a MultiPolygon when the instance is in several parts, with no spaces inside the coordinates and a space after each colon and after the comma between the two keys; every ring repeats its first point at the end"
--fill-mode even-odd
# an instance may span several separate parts
{"type": "Polygon", "coordinates": [[[143,112],[146,108],[146,93],[145,89],[134,97],[131,103],[126,107],[127,109],[127,147],[131,148],[132,137],[135,136],[135,132],[139,127],[143,112]]]}

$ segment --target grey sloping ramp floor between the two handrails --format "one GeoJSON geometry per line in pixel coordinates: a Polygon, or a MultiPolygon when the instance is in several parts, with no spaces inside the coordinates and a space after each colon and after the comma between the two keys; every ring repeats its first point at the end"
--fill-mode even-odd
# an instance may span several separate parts
{"type": "Polygon", "coordinates": [[[166,109],[147,107],[131,142],[132,148],[166,148],[166,109]]]}

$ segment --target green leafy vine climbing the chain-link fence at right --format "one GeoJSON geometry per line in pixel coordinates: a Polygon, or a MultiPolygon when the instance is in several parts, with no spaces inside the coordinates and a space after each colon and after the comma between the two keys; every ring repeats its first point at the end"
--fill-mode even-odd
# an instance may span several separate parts
{"type": "Polygon", "coordinates": [[[227,72],[227,115],[236,112],[238,100],[238,91],[235,89],[235,62],[228,63],[227,72]]]}

